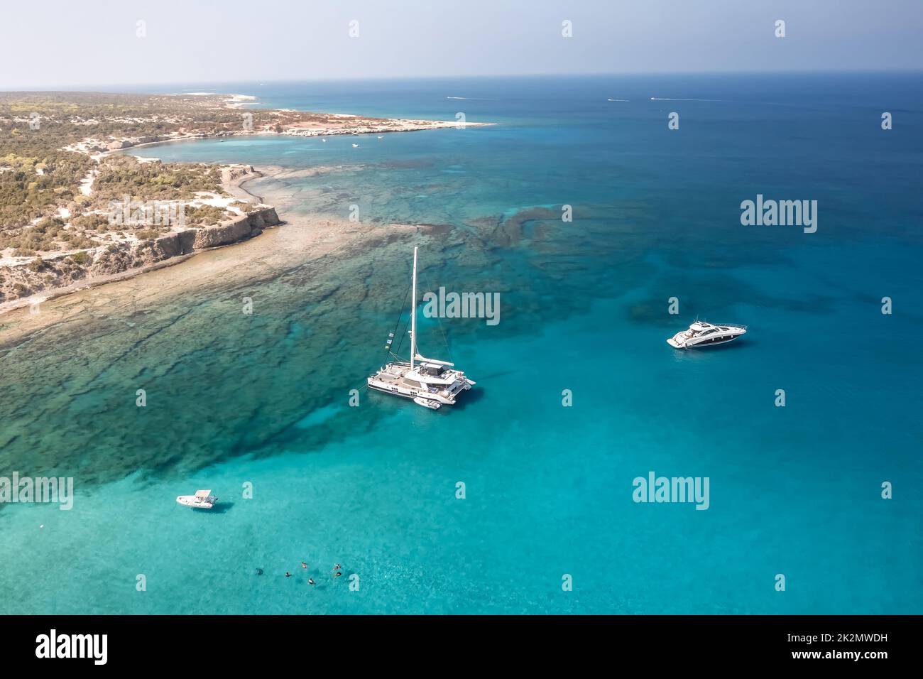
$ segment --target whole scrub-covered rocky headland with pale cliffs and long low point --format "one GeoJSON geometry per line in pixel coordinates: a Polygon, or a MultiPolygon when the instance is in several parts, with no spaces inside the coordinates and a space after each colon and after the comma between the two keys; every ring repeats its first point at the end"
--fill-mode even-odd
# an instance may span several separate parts
{"type": "MultiPolygon", "coordinates": [[[[217,226],[265,209],[232,200],[222,188],[222,180],[252,169],[142,162],[121,150],[239,134],[426,127],[418,121],[240,110],[228,95],[0,92],[0,303],[169,259],[191,242],[196,248],[233,242],[246,236],[246,224],[206,234],[187,234],[182,227],[217,226]]],[[[277,220],[270,209],[252,224],[258,229],[277,220]]]]}

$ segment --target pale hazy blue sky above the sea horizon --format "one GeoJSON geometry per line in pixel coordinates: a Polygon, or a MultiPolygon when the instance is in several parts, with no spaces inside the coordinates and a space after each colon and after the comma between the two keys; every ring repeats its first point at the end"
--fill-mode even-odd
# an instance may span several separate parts
{"type": "Polygon", "coordinates": [[[42,0],[0,18],[0,90],[891,69],[923,69],[923,0],[42,0]]]}

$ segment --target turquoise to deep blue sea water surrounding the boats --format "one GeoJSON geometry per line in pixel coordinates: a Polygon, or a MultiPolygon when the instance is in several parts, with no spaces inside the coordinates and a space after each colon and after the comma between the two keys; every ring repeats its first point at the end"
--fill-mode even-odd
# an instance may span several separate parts
{"type": "Polygon", "coordinates": [[[431,226],[166,302],[92,306],[0,348],[0,469],[54,469],[78,489],[70,512],[0,510],[14,555],[0,612],[923,611],[921,85],[217,87],[273,107],[497,125],[143,150],[323,168],[252,185],[293,222],[355,204],[382,228],[431,226]],[[817,233],[742,226],[740,202],[758,193],[818,200],[817,233]],[[450,354],[478,386],[438,412],[366,391],[350,407],[386,358],[414,244],[422,288],[500,293],[496,326],[422,321],[423,353],[450,354]],[[697,316],[749,334],[699,353],[665,344],[697,316]],[[709,509],[632,502],[652,470],[708,477],[709,509]],[[197,488],[222,511],[174,503],[197,488]]]}

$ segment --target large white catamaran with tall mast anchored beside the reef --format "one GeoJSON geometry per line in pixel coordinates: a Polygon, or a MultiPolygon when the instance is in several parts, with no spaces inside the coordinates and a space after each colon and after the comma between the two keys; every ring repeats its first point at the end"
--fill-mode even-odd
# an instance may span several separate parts
{"type": "MultiPolygon", "coordinates": [[[[455,397],[472,388],[474,382],[464,376],[462,370],[454,370],[454,363],[436,358],[426,358],[416,348],[416,248],[414,248],[413,298],[410,308],[410,362],[402,361],[395,354],[394,360],[380,368],[368,378],[368,388],[385,394],[413,398],[418,406],[437,410],[441,406],[453,406],[455,397]]],[[[405,298],[406,299],[406,298],[405,298]]],[[[386,348],[390,351],[393,333],[386,348]]]]}

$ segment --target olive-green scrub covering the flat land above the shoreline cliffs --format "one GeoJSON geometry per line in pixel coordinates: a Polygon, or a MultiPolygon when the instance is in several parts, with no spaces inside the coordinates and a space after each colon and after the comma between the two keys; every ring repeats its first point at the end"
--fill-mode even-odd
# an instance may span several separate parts
{"type": "MultiPolygon", "coordinates": [[[[271,120],[262,112],[250,115],[259,125],[271,120]]],[[[224,108],[218,97],[0,93],[0,229],[26,227],[58,208],[99,209],[99,200],[126,194],[139,200],[180,200],[197,190],[214,191],[221,185],[215,166],[132,164],[114,157],[106,159],[94,180],[94,193],[101,194],[94,199],[99,200],[87,200],[79,185],[96,167],[91,152],[126,143],[113,139],[157,140],[175,133],[231,133],[241,127],[242,114],[224,108]],[[66,150],[88,138],[98,143],[66,150]]]]}

